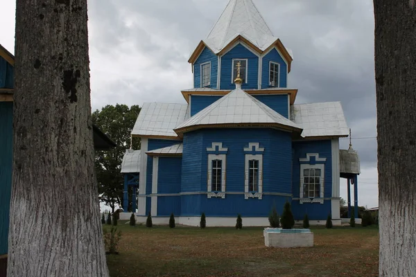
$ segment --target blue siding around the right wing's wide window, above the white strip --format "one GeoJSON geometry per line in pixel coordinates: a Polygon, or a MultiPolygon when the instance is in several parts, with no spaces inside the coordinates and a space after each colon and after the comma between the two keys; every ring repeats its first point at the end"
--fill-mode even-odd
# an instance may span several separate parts
{"type": "MultiPolygon", "coordinates": [[[[332,196],[332,156],[331,141],[296,141],[293,143],[293,197],[300,197],[300,158],[306,153],[318,153],[324,162],[324,197],[332,196]]],[[[311,158],[312,160],[313,158],[311,158]]]]}

